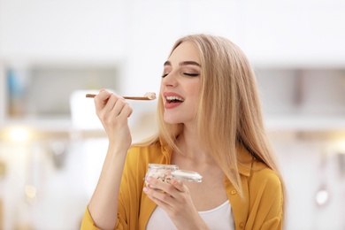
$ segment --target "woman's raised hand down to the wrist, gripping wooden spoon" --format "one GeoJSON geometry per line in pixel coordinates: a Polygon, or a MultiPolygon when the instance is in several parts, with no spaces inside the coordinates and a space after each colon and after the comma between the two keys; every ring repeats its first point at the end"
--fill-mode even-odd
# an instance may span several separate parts
{"type": "Polygon", "coordinates": [[[95,96],[95,107],[110,144],[114,143],[119,149],[127,150],[132,143],[128,126],[128,117],[133,111],[131,106],[123,97],[101,89],[95,96]]]}

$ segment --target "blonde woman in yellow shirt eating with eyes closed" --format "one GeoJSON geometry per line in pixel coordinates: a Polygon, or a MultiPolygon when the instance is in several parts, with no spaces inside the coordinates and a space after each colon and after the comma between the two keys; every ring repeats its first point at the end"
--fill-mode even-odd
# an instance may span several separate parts
{"type": "Polygon", "coordinates": [[[281,229],[284,184],[249,61],[226,38],[180,38],[165,61],[159,131],[132,145],[121,97],[101,90],[96,113],[109,138],[81,229],[281,229]],[[201,183],[148,177],[148,164],[203,175],[201,183]],[[162,191],[158,191],[159,188],[162,191]]]}

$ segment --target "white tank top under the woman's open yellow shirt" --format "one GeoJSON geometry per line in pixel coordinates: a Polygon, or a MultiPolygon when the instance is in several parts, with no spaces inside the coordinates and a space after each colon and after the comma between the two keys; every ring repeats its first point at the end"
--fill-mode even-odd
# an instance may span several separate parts
{"type": "MultiPolygon", "coordinates": [[[[210,229],[234,230],[233,211],[228,200],[212,210],[199,211],[199,214],[210,229]]],[[[146,229],[176,230],[176,226],[173,225],[173,221],[169,218],[168,214],[157,206],[149,218],[146,229]]]]}

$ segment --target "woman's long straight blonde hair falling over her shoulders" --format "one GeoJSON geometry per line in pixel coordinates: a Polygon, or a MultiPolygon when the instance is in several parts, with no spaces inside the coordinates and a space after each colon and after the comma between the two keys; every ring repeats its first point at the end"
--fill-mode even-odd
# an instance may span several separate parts
{"type": "MultiPolygon", "coordinates": [[[[196,128],[203,147],[209,150],[211,157],[242,198],[242,184],[238,173],[240,159],[236,151],[238,145],[248,149],[257,160],[277,173],[283,185],[278,164],[266,137],[256,78],[242,50],[226,38],[213,35],[182,37],[175,42],[173,50],[182,42],[193,42],[200,54],[201,95],[196,128]]],[[[178,151],[175,142],[183,125],[167,124],[163,115],[164,104],[159,97],[159,131],[150,142],[155,142],[160,137],[178,151]]]]}

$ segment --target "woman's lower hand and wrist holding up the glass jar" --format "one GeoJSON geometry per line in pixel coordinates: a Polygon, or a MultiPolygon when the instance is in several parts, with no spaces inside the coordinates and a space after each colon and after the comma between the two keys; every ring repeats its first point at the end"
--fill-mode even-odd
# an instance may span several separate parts
{"type": "Polygon", "coordinates": [[[168,214],[178,229],[209,229],[182,181],[173,179],[167,183],[148,177],[146,182],[147,187],[143,191],[168,214]]]}

